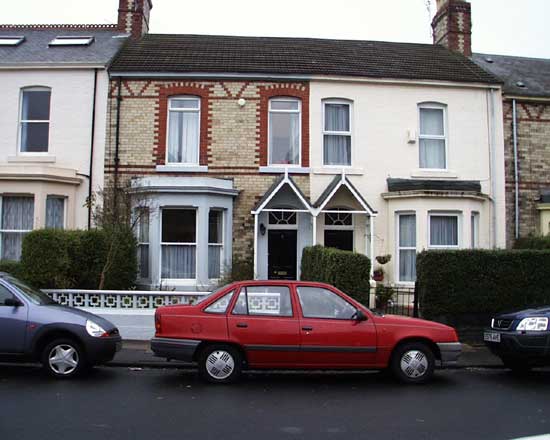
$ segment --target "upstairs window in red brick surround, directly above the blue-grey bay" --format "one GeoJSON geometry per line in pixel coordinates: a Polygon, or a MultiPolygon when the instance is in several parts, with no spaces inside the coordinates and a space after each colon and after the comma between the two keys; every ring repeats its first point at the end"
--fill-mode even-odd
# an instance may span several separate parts
{"type": "Polygon", "coordinates": [[[200,104],[192,96],[168,101],[168,164],[198,165],[200,104]]]}

